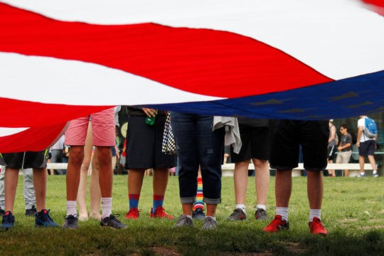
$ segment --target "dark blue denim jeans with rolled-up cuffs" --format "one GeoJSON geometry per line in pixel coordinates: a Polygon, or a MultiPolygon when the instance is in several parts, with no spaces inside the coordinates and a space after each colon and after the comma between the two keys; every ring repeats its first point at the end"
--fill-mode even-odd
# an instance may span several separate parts
{"type": "Polygon", "coordinates": [[[212,116],[178,112],[171,112],[171,125],[180,162],[178,185],[181,203],[196,201],[199,166],[203,178],[203,201],[220,203],[224,128],[212,131],[212,116]]]}

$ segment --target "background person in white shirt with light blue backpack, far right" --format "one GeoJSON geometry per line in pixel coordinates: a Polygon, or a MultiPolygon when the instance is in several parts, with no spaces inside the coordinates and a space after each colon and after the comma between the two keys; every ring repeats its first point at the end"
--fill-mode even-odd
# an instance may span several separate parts
{"type": "Polygon", "coordinates": [[[361,115],[358,119],[358,137],[356,146],[358,147],[358,163],[360,164],[360,175],[358,177],[365,177],[366,173],[364,171],[364,164],[366,156],[370,162],[370,165],[373,169],[373,177],[378,177],[378,169],[375,162],[375,149],[376,141],[378,140],[378,134],[375,137],[371,138],[364,132],[366,129],[366,115],[361,115]]]}

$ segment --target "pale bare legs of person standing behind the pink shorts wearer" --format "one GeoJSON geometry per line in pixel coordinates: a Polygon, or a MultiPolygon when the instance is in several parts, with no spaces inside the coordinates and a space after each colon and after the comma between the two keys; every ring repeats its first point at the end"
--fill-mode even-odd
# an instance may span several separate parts
{"type": "Polygon", "coordinates": [[[80,220],[87,220],[87,177],[90,164],[92,164],[92,172],[90,174],[90,218],[100,220],[100,184],[99,170],[100,166],[97,161],[97,149],[92,157],[92,124],[89,122],[87,129],[87,137],[84,146],[84,159],[80,167],[80,183],[78,189],[78,207],[80,220]]]}

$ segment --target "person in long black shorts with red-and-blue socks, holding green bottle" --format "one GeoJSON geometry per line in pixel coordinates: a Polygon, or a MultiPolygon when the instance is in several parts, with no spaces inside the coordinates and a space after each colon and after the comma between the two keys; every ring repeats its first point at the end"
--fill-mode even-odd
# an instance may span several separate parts
{"type": "Polygon", "coordinates": [[[129,210],[125,218],[139,218],[139,199],[146,169],[153,169],[153,207],[151,218],[169,218],[163,203],[169,179],[169,169],[176,166],[176,154],[164,154],[163,143],[166,112],[150,108],[128,107],[127,156],[129,210]],[[148,122],[147,118],[154,118],[148,122]]]}

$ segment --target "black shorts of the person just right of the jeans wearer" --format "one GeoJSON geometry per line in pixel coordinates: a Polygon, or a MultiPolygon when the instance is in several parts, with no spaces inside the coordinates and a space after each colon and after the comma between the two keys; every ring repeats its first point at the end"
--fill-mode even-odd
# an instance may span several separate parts
{"type": "Polygon", "coordinates": [[[249,127],[240,124],[241,149],[239,154],[231,147],[230,160],[233,163],[250,159],[268,160],[270,158],[270,128],[249,127]]]}

